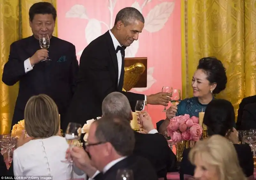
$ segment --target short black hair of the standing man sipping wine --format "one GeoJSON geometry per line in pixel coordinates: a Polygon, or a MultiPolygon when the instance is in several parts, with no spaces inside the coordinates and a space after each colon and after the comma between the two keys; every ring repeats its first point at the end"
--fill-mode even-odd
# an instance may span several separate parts
{"type": "Polygon", "coordinates": [[[54,6],[48,2],[39,2],[33,4],[29,9],[29,20],[32,22],[36,14],[52,14],[52,18],[55,21],[57,12],[54,6]]]}

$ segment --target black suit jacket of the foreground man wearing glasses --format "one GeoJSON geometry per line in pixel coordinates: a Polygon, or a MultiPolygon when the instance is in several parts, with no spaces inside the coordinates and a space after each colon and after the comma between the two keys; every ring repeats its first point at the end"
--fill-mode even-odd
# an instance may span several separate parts
{"type": "Polygon", "coordinates": [[[133,180],[157,180],[156,173],[150,162],[139,156],[128,156],[119,161],[104,174],[98,174],[94,180],[114,180],[118,169],[131,169],[133,180]]]}

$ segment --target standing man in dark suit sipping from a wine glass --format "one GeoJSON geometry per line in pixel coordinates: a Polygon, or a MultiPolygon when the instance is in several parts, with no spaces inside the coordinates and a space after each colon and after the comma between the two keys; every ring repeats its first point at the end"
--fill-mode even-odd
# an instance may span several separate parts
{"type": "Polygon", "coordinates": [[[76,49],[72,43],[52,36],[56,9],[52,4],[39,2],[29,9],[29,24],[33,35],[11,44],[4,65],[2,81],[9,86],[20,81],[12,125],[24,119],[24,109],[33,95],[47,94],[59,108],[61,119],[73,96],[78,74],[76,49]],[[41,49],[39,36],[48,34],[50,47],[41,49]],[[45,59],[45,57],[49,57],[45,59]]]}

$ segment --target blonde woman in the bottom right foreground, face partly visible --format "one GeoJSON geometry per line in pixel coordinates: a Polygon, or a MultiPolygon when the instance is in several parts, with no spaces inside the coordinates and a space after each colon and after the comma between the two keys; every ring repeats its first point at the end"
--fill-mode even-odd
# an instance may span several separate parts
{"type": "Polygon", "coordinates": [[[197,142],[188,157],[196,166],[195,179],[247,180],[239,165],[234,145],[220,135],[197,142]]]}

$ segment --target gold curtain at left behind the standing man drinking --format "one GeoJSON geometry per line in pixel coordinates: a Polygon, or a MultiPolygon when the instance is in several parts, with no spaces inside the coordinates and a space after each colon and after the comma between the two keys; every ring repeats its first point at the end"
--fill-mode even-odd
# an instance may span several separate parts
{"type": "MultiPolygon", "coordinates": [[[[7,86],[2,82],[4,64],[8,60],[11,43],[32,35],[28,11],[37,2],[49,2],[56,7],[56,0],[0,0],[0,134],[10,132],[19,90],[19,83],[7,86]]],[[[57,36],[57,22],[53,35],[57,36]]]]}

